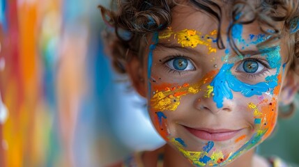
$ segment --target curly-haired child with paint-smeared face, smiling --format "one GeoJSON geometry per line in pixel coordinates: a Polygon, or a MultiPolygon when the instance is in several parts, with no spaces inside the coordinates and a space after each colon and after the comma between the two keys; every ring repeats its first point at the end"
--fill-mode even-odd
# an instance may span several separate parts
{"type": "Polygon", "coordinates": [[[117,12],[100,9],[114,29],[114,66],[147,98],[167,141],[116,166],[271,165],[254,148],[298,90],[297,0],[121,0],[117,12]]]}

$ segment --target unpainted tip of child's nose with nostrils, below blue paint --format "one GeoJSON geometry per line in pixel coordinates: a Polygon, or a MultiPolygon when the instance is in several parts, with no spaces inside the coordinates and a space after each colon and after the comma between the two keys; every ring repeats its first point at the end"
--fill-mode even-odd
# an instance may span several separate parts
{"type": "Polygon", "coordinates": [[[213,96],[210,97],[200,97],[195,100],[194,106],[199,111],[209,111],[213,114],[221,113],[222,111],[233,111],[233,101],[224,99],[223,106],[218,108],[217,104],[213,100],[213,96]]]}

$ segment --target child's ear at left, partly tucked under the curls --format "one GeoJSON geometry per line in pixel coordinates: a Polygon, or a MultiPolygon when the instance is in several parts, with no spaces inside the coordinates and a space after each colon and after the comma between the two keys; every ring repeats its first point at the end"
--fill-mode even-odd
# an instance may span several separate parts
{"type": "Polygon", "coordinates": [[[141,62],[137,58],[137,56],[132,56],[130,61],[127,63],[126,70],[130,76],[132,81],[132,85],[135,90],[142,97],[146,97],[146,84],[144,79],[144,68],[141,65],[141,62]]]}

